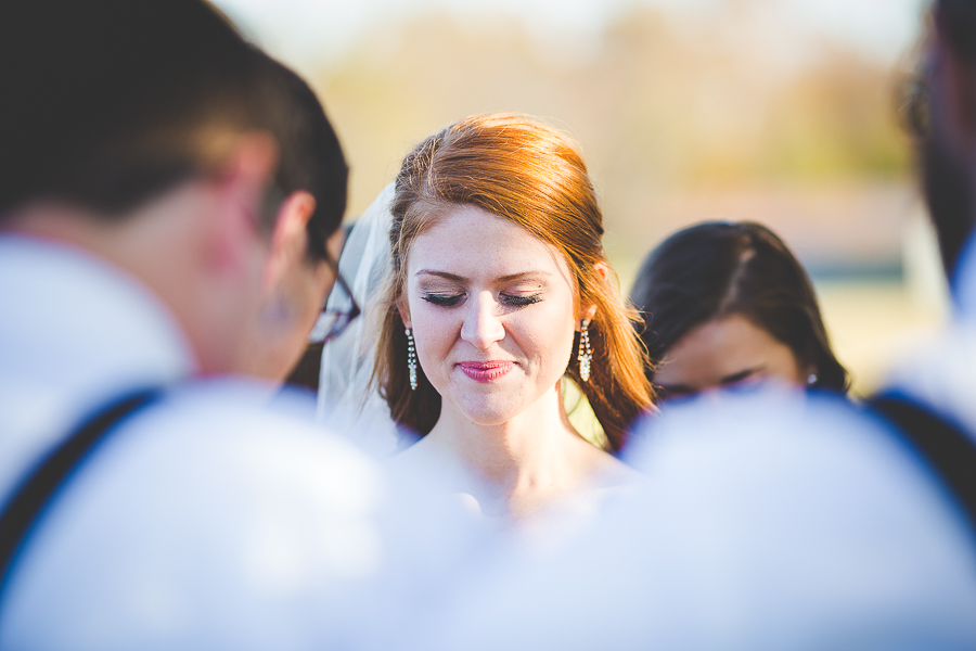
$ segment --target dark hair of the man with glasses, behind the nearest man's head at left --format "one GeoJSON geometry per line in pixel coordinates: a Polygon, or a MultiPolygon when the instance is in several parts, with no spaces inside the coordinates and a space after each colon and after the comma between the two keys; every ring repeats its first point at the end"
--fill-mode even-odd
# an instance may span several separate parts
{"type": "MultiPolygon", "coordinates": [[[[306,229],[308,255],[311,260],[322,260],[326,257],[325,241],[346,212],[346,158],[314,91],[285,65],[264,53],[259,56],[269,104],[274,107],[270,129],[281,145],[278,194],[305,190],[316,199],[316,212],[306,229]]],[[[278,206],[269,207],[273,210],[278,206]]]]}

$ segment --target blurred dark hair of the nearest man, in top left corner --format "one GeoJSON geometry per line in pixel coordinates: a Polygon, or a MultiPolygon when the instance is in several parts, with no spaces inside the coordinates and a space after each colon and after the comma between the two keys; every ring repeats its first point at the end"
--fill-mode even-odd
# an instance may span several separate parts
{"type": "Polygon", "coordinates": [[[203,0],[0,3],[0,220],[37,199],[119,216],[216,171],[234,135],[275,131],[260,61],[203,0]]]}

